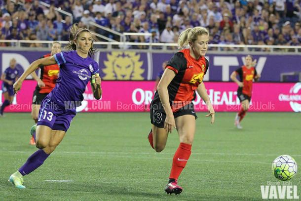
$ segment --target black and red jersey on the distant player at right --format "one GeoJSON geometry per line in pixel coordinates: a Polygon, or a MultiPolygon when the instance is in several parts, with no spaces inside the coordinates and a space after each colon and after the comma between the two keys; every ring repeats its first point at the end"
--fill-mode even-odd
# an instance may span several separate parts
{"type": "Polygon", "coordinates": [[[247,68],[246,66],[242,66],[235,71],[239,75],[239,79],[243,82],[243,87],[238,87],[238,90],[243,94],[248,96],[252,96],[252,86],[253,79],[257,75],[255,67],[247,68]]]}

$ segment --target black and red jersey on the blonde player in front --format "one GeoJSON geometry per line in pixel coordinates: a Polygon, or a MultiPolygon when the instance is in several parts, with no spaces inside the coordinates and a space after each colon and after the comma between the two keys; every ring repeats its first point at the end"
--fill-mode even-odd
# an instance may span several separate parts
{"type": "MultiPolygon", "coordinates": [[[[166,68],[176,73],[176,76],[167,87],[173,112],[178,111],[195,99],[195,89],[203,81],[203,77],[209,68],[209,62],[205,57],[195,60],[189,53],[189,49],[183,49],[175,53],[166,65],[166,68]]],[[[157,91],[152,101],[160,102],[157,91]]]]}

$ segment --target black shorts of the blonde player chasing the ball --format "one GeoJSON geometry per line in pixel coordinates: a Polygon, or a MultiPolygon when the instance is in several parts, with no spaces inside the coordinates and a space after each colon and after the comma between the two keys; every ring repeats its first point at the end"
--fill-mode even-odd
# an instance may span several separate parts
{"type": "MultiPolygon", "coordinates": [[[[151,113],[151,124],[159,128],[164,128],[166,113],[164,111],[161,102],[151,103],[150,113],[151,113]]],[[[174,112],[175,119],[183,115],[192,115],[195,117],[195,119],[197,119],[197,116],[194,111],[193,103],[189,103],[188,105],[180,108],[177,112],[174,112]]]]}

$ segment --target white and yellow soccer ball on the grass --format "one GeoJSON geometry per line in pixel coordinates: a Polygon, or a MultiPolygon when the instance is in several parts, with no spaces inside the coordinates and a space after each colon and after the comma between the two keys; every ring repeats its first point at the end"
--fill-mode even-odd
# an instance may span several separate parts
{"type": "Polygon", "coordinates": [[[290,180],[297,174],[297,162],[289,155],[279,156],[272,162],[272,171],[277,179],[290,180]]]}

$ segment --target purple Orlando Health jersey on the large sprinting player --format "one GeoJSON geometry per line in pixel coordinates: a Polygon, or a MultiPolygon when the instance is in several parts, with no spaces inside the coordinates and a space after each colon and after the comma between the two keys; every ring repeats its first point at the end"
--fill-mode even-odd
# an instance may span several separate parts
{"type": "Polygon", "coordinates": [[[60,66],[60,76],[48,97],[66,109],[75,109],[81,105],[92,75],[99,71],[98,64],[89,56],[80,57],[76,51],[60,52],[54,58],[60,66]]]}

